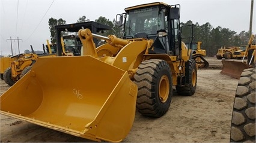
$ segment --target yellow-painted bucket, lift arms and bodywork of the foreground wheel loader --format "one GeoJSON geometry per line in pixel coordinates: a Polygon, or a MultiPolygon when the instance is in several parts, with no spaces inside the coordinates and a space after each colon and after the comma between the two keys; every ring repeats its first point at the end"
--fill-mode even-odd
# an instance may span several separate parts
{"type": "MultiPolygon", "coordinates": [[[[152,5],[169,8],[155,2],[126,10],[152,5]]],[[[96,48],[93,37],[102,36],[92,34],[90,29],[81,29],[78,35],[83,56],[38,58],[31,70],[0,96],[1,114],[93,141],[120,142],[132,128],[138,96],[133,80],[142,62],[157,59],[168,65],[171,81],[167,75],[160,77],[162,87],[156,87],[160,95],[172,93],[167,85],[180,85],[185,74],[192,75],[186,80],[195,89],[197,65],[191,73],[185,72],[192,50],[181,41],[179,54],[153,54],[153,39],[109,35],[103,38],[107,43],[96,48]]],[[[157,100],[164,104],[166,97],[160,98],[157,100]]]]}

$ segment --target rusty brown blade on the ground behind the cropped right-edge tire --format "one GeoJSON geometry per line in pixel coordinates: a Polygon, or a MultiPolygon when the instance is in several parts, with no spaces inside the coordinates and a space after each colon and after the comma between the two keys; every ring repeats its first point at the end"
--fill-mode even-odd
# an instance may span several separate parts
{"type": "Polygon", "coordinates": [[[243,62],[236,62],[236,61],[229,61],[229,60],[222,60],[222,71],[221,74],[228,75],[233,78],[240,78],[244,69],[249,68],[246,63],[243,62]]]}

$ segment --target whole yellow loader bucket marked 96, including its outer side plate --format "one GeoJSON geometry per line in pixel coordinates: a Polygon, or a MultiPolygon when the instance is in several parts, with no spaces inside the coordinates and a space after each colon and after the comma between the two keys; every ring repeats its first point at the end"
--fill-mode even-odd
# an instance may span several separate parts
{"type": "Polygon", "coordinates": [[[0,96],[0,113],[94,141],[119,142],[132,127],[137,91],[126,71],[94,57],[40,57],[0,96]]]}

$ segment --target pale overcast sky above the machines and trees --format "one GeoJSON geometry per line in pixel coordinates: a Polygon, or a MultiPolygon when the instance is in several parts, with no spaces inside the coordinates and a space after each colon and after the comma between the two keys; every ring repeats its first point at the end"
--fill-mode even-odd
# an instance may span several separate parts
{"type": "MultiPolygon", "coordinates": [[[[50,39],[48,20],[62,18],[67,24],[76,23],[79,17],[86,16],[94,21],[100,16],[113,20],[124,13],[124,8],[156,1],[139,0],[0,0],[1,8],[1,47],[0,54],[11,54],[10,37],[19,37],[20,53],[30,45],[34,50],[42,50],[42,44],[50,39]],[[22,40],[21,40],[22,39],[22,40]]],[[[236,31],[249,31],[251,0],[180,0],[159,1],[181,5],[181,22],[192,20],[203,25],[209,22],[213,28],[221,26],[236,31]]],[[[255,3],[252,32],[256,32],[255,3]]],[[[13,54],[19,54],[18,42],[12,41],[13,54]]]]}

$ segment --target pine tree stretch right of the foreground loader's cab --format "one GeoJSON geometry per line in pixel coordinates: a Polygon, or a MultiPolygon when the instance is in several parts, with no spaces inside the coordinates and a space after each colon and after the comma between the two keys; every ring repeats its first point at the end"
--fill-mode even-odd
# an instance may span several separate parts
{"type": "MultiPolygon", "coordinates": [[[[218,48],[221,47],[240,47],[241,45],[247,45],[251,36],[249,35],[249,31],[242,31],[237,34],[237,32],[228,28],[222,28],[221,26],[213,28],[209,22],[199,25],[189,20],[186,23],[181,22],[180,25],[194,25],[193,42],[202,41],[201,48],[206,50],[207,56],[215,56],[218,48]]],[[[187,37],[190,33],[189,28],[182,28],[181,37],[187,37]]]]}

